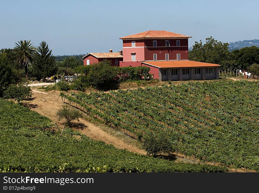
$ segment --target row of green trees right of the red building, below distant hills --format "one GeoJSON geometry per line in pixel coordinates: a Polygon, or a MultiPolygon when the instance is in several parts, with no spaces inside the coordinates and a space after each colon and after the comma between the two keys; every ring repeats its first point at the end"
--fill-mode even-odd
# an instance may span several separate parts
{"type": "Polygon", "coordinates": [[[240,50],[228,50],[228,43],[217,41],[212,36],[206,38],[202,44],[195,41],[189,52],[189,60],[219,64],[220,71],[242,70],[250,71],[253,75],[259,75],[259,48],[256,46],[241,48],[240,50]]]}

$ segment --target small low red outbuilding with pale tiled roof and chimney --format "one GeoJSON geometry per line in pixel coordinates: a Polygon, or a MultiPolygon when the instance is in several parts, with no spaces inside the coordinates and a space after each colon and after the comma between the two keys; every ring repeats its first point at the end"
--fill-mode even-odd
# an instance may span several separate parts
{"type": "Polygon", "coordinates": [[[84,60],[84,65],[92,65],[104,60],[109,60],[112,66],[119,66],[119,61],[123,60],[123,56],[122,51],[112,52],[112,49],[110,49],[109,52],[104,53],[89,53],[82,57],[82,60],[84,60]]]}

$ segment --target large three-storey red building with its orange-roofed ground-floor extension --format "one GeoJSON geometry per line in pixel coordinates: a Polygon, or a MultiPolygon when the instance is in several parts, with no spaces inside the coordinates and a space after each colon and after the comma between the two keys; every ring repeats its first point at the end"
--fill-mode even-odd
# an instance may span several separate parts
{"type": "Polygon", "coordinates": [[[148,66],[159,80],[219,78],[220,65],[188,60],[188,38],[191,36],[152,30],[121,37],[123,61],[119,66],[148,66]]]}

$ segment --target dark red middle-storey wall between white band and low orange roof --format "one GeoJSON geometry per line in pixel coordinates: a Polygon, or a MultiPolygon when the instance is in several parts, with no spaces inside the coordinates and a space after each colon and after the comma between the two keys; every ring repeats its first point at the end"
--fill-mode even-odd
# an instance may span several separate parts
{"type": "Polygon", "coordinates": [[[181,60],[188,60],[188,47],[163,47],[145,48],[145,60],[153,60],[153,54],[157,54],[157,60],[165,60],[165,54],[169,53],[169,60],[176,60],[180,53],[181,60]]]}

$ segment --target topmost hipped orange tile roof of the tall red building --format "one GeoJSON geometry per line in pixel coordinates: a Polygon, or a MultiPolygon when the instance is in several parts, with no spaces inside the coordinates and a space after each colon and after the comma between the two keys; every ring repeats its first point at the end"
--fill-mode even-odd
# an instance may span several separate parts
{"type": "Polygon", "coordinates": [[[182,35],[180,33],[173,33],[164,30],[149,30],[141,33],[136,33],[129,36],[124,36],[119,39],[127,38],[191,38],[191,36],[182,35]]]}

